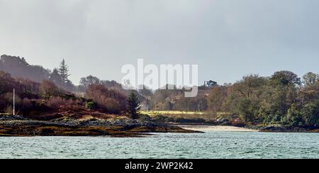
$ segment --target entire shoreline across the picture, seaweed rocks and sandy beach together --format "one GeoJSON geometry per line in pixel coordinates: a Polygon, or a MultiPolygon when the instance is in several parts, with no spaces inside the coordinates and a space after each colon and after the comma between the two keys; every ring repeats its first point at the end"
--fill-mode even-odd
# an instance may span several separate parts
{"type": "Polygon", "coordinates": [[[318,128],[284,125],[216,125],[202,123],[161,123],[151,119],[133,120],[125,116],[96,118],[64,117],[37,121],[22,116],[0,116],[0,137],[15,136],[115,136],[142,137],[147,133],[267,132],[319,133],[318,128]]]}

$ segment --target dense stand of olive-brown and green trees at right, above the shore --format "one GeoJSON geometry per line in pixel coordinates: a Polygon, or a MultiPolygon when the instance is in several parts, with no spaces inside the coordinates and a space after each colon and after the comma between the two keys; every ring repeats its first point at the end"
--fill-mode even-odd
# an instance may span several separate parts
{"type": "Polygon", "coordinates": [[[302,78],[289,71],[271,77],[250,74],[235,84],[216,86],[208,96],[209,109],[227,111],[247,123],[319,125],[319,75],[302,78]]]}

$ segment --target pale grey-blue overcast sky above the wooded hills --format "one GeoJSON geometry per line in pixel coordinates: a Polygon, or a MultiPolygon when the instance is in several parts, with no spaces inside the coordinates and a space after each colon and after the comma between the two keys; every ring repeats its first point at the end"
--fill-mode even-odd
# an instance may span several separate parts
{"type": "Polygon", "coordinates": [[[0,54],[71,79],[121,67],[198,64],[200,83],[288,69],[319,73],[318,0],[0,0],[0,54]]]}

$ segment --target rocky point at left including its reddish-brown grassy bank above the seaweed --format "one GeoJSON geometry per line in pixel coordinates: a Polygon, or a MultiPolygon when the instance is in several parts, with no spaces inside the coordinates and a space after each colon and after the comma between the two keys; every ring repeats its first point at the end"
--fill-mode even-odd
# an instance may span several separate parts
{"type": "Polygon", "coordinates": [[[138,137],[143,133],[194,133],[175,125],[150,120],[111,118],[57,118],[38,121],[22,116],[0,116],[0,136],[99,136],[138,137]]]}

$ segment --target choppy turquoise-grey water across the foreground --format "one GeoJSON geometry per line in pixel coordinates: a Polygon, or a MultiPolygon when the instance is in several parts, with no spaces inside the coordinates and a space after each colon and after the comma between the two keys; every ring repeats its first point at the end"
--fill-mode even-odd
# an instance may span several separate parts
{"type": "Polygon", "coordinates": [[[0,138],[0,158],[319,158],[318,133],[0,138]]]}

